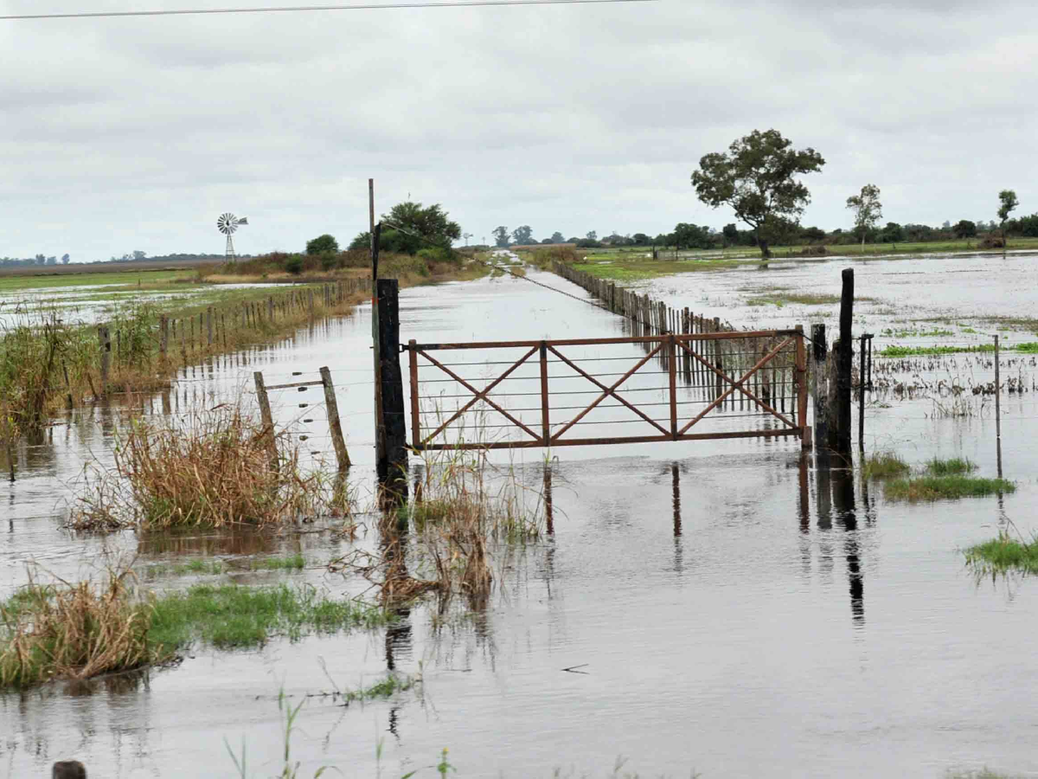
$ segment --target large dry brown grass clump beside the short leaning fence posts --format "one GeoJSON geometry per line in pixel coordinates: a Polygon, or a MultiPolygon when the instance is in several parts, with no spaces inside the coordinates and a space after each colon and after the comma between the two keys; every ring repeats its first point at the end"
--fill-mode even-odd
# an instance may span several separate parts
{"type": "Polygon", "coordinates": [[[72,527],[263,528],[348,508],[320,474],[301,472],[286,436],[220,406],[182,422],[133,421],[120,433],[114,473],[87,483],[72,527]]]}

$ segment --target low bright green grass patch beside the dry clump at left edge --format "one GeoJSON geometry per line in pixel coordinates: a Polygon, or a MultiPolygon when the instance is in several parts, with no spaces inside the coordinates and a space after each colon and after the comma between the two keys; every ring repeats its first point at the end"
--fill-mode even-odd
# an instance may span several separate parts
{"type": "Polygon", "coordinates": [[[152,603],[148,639],[169,651],[200,642],[217,648],[262,646],[276,636],[297,641],[308,633],[375,627],[386,612],[352,600],[333,600],[312,587],[249,588],[195,585],[152,603]]]}

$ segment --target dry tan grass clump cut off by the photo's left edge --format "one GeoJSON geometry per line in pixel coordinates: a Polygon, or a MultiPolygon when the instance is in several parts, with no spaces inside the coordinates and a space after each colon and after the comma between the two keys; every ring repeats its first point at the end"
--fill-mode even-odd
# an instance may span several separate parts
{"type": "Polygon", "coordinates": [[[126,572],[103,584],[28,586],[0,603],[0,689],[86,679],[161,661],[148,640],[151,607],[135,601],[126,572]]]}

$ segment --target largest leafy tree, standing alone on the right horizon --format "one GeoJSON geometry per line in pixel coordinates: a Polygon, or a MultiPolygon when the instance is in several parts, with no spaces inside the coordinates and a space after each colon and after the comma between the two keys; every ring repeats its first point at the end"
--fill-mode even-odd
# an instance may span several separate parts
{"type": "Polygon", "coordinates": [[[727,153],[705,155],[692,172],[700,199],[712,208],[729,206],[754,229],[764,258],[771,257],[773,227],[796,220],[811,203],[811,193],[796,177],[825,164],[814,149],[792,145],[777,130],[754,130],[733,141],[727,153]]]}

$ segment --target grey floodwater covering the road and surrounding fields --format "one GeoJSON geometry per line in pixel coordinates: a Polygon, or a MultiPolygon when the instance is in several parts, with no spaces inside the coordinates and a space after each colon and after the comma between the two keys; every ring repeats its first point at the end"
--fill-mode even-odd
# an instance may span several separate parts
{"type": "MultiPolygon", "coordinates": [[[[930,305],[912,294],[911,281],[883,275],[914,262],[870,261],[858,293],[892,307],[930,305]]],[[[807,284],[793,280],[799,275],[838,278],[840,267],[812,264],[773,277],[799,286],[807,284]]],[[[1026,294],[1031,274],[1026,265],[995,274],[1003,299],[1026,294]]],[[[723,303],[761,275],[694,273],[654,285],[675,290],[674,303],[699,312],[715,299],[733,323],[763,326],[738,321],[741,310],[723,303]]],[[[957,305],[972,305],[959,277],[937,277],[945,280],[926,292],[933,312],[957,317],[957,305]]],[[[551,274],[530,278],[584,297],[551,274]]],[[[839,293],[828,280],[819,287],[839,293]]],[[[611,314],[508,276],[406,290],[401,302],[405,342],[625,334],[611,314]]],[[[1015,311],[1015,303],[1000,305],[1015,311]]],[[[766,326],[807,324],[798,315],[785,306],[766,326]]],[[[252,371],[274,383],[328,365],[356,463],[351,479],[370,490],[370,332],[361,308],[277,346],[189,368],[173,394],[147,399],[143,410],[215,405],[247,396],[252,371]]],[[[480,378],[503,368],[470,370],[466,376],[480,378]]],[[[228,777],[236,772],[225,741],[240,752],[244,740],[250,776],[271,776],[280,771],[280,687],[300,702],[370,684],[387,669],[420,673],[424,681],[417,692],[363,706],[305,699],[292,742],[300,776],[325,764],[347,777],[434,776],[444,748],[458,776],[608,775],[621,757],[643,776],[940,777],[982,765],[1038,775],[1035,582],[978,583],[961,554],[994,536],[1007,517],[1025,533],[1038,531],[1033,398],[1003,398],[1003,467],[1018,483],[1003,498],[887,502],[879,485],[801,460],[792,439],[555,449],[554,534],[499,557],[486,613],[439,616],[417,606],[371,634],[275,641],[249,652],[200,649],[143,678],[0,696],[0,775],[45,776],[54,760],[75,756],[91,776],[228,777]]],[[[289,393],[276,407],[282,423],[308,436],[307,451],[330,456],[316,398],[289,393]]],[[[139,556],[138,568],[188,556],[301,550],[315,569],[294,581],[357,591],[356,582],[318,569],[348,548],[320,534],[62,532],[62,502],[84,463],[110,461],[113,427],[127,413],[116,404],[77,411],[20,450],[18,480],[0,493],[0,593],[24,582],[28,561],[86,575],[104,553],[119,550],[139,556]]],[[[887,399],[870,406],[867,428],[872,450],[894,449],[912,463],[965,456],[994,475],[988,410],[941,418],[932,398],[887,399]]],[[[531,488],[543,483],[542,451],[495,459],[531,488]]]]}

